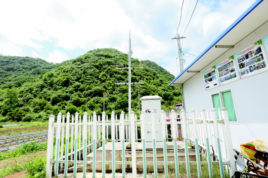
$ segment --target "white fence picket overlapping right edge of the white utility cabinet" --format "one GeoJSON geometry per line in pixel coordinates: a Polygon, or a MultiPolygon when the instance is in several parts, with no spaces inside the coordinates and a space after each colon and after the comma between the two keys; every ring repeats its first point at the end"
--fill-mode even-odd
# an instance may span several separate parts
{"type": "Polygon", "coordinates": [[[167,169],[167,153],[166,153],[166,117],[165,111],[161,111],[161,118],[162,118],[162,137],[163,137],[163,152],[164,152],[164,170],[165,170],[165,177],[168,177],[168,169],[167,169]]]}

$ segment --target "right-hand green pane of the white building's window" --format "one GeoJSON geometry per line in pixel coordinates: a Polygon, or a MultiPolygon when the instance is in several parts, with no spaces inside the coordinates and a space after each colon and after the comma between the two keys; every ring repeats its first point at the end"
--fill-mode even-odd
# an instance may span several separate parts
{"type": "Polygon", "coordinates": [[[228,109],[229,121],[237,121],[231,91],[229,90],[229,91],[222,92],[221,96],[222,96],[222,101],[224,102],[224,107],[228,109]]]}

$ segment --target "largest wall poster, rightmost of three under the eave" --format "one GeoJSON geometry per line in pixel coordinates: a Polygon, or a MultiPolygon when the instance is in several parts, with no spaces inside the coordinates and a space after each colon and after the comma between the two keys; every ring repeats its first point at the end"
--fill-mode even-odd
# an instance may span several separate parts
{"type": "Polygon", "coordinates": [[[235,54],[241,79],[267,70],[267,59],[262,41],[259,40],[235,54]]]}

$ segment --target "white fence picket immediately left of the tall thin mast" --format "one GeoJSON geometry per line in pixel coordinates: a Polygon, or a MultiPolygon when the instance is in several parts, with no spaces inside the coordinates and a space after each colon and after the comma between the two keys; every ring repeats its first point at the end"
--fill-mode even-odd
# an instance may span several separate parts
{"type": "Polygon", "coordinates": [[[120,115],[120,138],[122,142],[122,177],[125,178],[125,120],[124,120],[124,111],[121,112],[120,115]]]}

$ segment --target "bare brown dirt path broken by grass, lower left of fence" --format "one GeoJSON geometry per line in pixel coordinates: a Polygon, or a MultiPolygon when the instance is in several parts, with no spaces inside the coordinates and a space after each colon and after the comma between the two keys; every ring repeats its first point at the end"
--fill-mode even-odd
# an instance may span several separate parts
{"type": "MultiPolygon", "coordinates": [[[[1,160],[0,161],[0,171],[4,170],[7,167],[11,167],[12,165],[14,165],[17,161],[18,164],[22,164],[24,162],[27,161],[31,161],[36,157],[45,157],[47,155],[47,152],[36,152],[36,153],[30,153],[30,154],[26,154],[26,155],[22,155],[20,157],[15,157],[15,158],[9,158],[9,159],[5,159],[5,160],[1,160]]],[[[21,171],[21,172],[15,172],[11,175],[5,176],[5,178],[22,178],[22,177],[26,177],[27,170],[21,171]]]]}

